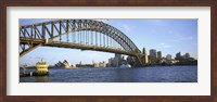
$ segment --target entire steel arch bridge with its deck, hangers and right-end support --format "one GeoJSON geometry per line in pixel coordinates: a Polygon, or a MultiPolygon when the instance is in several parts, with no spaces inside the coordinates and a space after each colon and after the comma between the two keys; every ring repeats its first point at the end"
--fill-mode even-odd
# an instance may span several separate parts
{"type": "Polygon", "coordinates": [[[20,58],[41,46],[125,54],[135,59],[135,65],[144,65],[143,54],[123,31],[93,20],[56,20],[20,26],[20,58]]]}

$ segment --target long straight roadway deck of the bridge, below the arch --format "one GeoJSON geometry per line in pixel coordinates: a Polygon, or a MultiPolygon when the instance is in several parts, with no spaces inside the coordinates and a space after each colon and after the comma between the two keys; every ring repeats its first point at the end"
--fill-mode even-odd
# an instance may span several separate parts
{"type": "MultiPolygon", "coordinates": [[[[58,47],[58,48],[71,48],[71,49],[80,49],[80,50],[102,51],[102,52],[126,54],[126,55],[130,55],[130,56],[141,56],[142,55],[140,53],[127,52],[127,51],[122,50],[122,49],[91,46],[91,44],[85,44],[85,43],[82,44],[82,43],[53,41],[52,39],[44,40],[44,39],[31,39],[31,38],[20,37],[20,41],[21,41],[20,43],[24,43],[24,44],[35,44],[35,46],[44,46],[44,47],[58,47]],[[30,43],[30,42],[33,42],[33,43],[30,43]]],[[[34,49],[31,49],[31,50],[34,50],[34,49]]],[[[29,51],[31,51],[31,50],[29,50],[29,51]]]]}

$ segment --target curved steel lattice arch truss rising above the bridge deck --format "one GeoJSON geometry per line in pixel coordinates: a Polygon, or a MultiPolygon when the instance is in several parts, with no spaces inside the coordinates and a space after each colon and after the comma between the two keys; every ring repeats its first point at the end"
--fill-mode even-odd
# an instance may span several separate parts
{"type": "Polygon", "coordinates": [[[113,38],[126,51],[141,53],[138,47],[123,31],[108,24],[93,20],[59,20],[34,25],[24,25],[20,26],[20,37],[54,39],[78,30],[91,30],[104,34],[113,38]],[[54,34],[53,30],[56,30],[58,34],[54,34]]]}

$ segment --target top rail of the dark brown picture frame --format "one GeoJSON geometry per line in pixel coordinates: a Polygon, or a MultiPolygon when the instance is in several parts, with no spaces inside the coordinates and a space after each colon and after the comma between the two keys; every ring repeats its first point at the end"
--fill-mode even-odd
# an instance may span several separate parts
{"type": "Polygon", "coordinates": [[[205,7],[215,0],[7,0],[12,7],[205,7]]]}

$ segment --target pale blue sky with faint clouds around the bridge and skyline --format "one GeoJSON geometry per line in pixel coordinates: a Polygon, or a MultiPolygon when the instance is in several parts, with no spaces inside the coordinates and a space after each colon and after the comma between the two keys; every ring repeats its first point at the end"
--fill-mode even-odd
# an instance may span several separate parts
{"type": "MultiPolygon", "coordinates": [[[[28,25],[52,20],[20,20],[21,25],[28,25]]],[[[128,36],[142,51],[155,49],[162,55],[190,53],[197,59],[197,20],[95,20],[116,27],[128,36]]],[[[114,53],[99,51],[81,51],[78,49],[39,47],[20,58],[20,65],[35,65],[43,59],[50,65],[67,60],[71,64],[92,64],[92,62],[107,62],[114,53]]]]}

